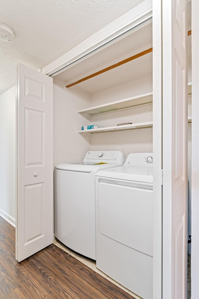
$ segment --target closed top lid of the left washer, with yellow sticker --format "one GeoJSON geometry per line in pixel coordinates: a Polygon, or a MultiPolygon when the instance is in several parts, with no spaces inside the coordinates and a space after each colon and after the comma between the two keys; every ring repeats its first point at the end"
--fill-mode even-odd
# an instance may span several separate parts
{"type": "Polygon", "coordinates": [[[77,171],[77,172],[86,172],[90,173],[91,170],[95,167],[100,168],[107,168],[111,167],[112,165],[115,165],[115,163],[104,163],[104,162],[70,162],[70,163],[60,163],[55,166],[56,169],[61,170],[68,170],[68,171],[77,171]]]}

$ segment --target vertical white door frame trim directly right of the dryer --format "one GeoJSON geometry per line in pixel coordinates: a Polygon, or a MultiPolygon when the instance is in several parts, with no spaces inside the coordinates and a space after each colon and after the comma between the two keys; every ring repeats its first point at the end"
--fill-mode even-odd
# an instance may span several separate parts
{"type": "Polygon", "coordinates": [[[153,0],[153,299],[162,298],[162,1],[153,0]]]}

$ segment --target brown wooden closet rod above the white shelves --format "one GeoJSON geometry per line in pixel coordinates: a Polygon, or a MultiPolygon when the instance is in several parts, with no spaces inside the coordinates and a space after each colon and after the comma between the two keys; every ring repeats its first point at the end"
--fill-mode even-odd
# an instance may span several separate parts
{"type": "MultiPolygon", "coordinates": [[[[187,35],[190,36],[191,34],[192,34],[192,31],[189,30],[189,31],[187,32],[187,35]]],[[[85,77],[85,78],[82,78],[82,79],[80,79],[80,80],[78,80],[78,81],[76,81],[76,82],[73,82],[73,83],[71,83],[71,84],[65,85],[65,88],[69,88],[69,87],[74,86],[74,85],[76,85],[76,84],[78,84],[78,83],[81,83],[81,82],[86,81],[86,80],[88,80],[88,79],[90,79],[90,78],[93,78],[93,77],[95,77],[95,76],[97,76],[97,75],[99,75],[99,74],[105,73],[105,72],[109,71],[109,69],[117,68],[119,65],[122,65],[122,64],[125,64],[125,63],[129,62],[129,61],[132,61],[132,60],[134,60],[134,59],[137,59],[138,57],[141,57],[141,56],[143,56],[143,55],[146,55],[146,54],[148,54],[148,53],[150,53],[150,52],[152,52],[152,51],[153,51],[153,48],[150,48],[150,49],[147,49],[147,50],[145,50],[145,51],[142,51],[142,52],[140,52],[140,53],[138,53],[138,54],[136,54],[136,55],[133,55],[133,56],[127,58],[127,59],[124,59],[124,60],[122,60],[122,61],[120,61],[120,62],[118,62],[118,63],[116,63],[116,64],[113,64],[113,65],[109,66],[108,68],[101,69],[100,71],[98,71],[98,72],[96,72],[96,73],[94,73],[94,74],[91,74],[91,75],[89,75],[89,76],[87,76],[87,77],[85,77]]]]}

